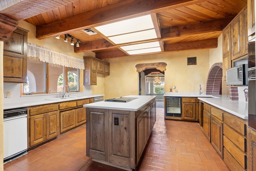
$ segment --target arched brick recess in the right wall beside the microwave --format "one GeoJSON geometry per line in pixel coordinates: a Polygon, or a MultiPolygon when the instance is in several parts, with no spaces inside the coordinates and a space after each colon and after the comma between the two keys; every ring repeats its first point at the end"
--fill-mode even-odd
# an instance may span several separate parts
{"type": "Polygon", "coordinates": [[[207,95],[219,95],[221,94],[222,87],[222,62],[212,65],[208,72],[206,82],[206,94],[207,95]]]}

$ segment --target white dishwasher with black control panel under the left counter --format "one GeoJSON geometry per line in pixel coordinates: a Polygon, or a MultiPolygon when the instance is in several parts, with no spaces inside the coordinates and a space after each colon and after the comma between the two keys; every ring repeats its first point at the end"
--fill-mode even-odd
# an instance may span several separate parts
{"type": "Polygon", "coordinates": [[[4,163],[8,163],[28,150],[26,108],[4,110],[4,163]]]}

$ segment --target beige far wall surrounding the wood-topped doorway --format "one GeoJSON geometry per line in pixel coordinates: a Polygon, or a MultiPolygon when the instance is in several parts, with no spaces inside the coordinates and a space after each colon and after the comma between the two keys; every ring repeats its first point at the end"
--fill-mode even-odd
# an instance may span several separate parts
{"type": "Polygon", "coordinates": [[[165,62],[165,91],[176,86],[178,92],[198,92],[199,84],[205,92],[209,70],[209,50],[193,50],[163,54],[114,58],[110,62],[110,76],[105,78],[105,98],[138,94],[136,64],[165,62]],[[197,65],[187,66],[188,57],[197,57],[197,65]]]}

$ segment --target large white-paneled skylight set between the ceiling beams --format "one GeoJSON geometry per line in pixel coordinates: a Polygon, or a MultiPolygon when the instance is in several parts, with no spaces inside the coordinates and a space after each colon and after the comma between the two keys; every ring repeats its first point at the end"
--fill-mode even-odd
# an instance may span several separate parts
{"type": "Polygon", "coordinates": [[[150,15],[114,22],[95,27],[114,44],[120,44],[120,48],[130,55],[161,52],[158,41],[122,46],[133,42],[157,39],[156,30],[150,15]]]}

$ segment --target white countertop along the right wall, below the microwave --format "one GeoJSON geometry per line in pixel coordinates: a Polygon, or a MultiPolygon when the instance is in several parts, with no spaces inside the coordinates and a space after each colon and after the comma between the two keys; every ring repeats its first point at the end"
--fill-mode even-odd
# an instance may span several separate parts
{"type": "Polygon", "coordinates": [[[242,119],[248,119],[247,102],[230,100],[228,95],[220,95],[220,98],[199,97],[198,99],[227,111],[228,113],[241,117],[242,119]]]}

